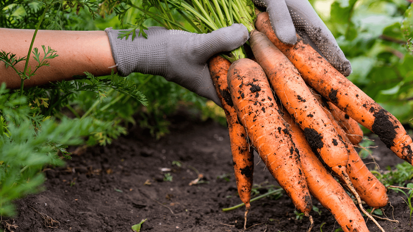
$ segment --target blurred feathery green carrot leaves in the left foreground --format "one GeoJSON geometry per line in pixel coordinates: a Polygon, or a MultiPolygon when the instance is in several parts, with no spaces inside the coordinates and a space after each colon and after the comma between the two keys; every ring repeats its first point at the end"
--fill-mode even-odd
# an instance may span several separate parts
{"type": "Polygon", "coordinates": [[[26,97],[0,88],[0,214],[13,215],[12,200],[37,192],[44,181],[45,165],[57,166],[69,158],[66,145],[81,144],[93,131],[91,118],[60,121],[31,116],[26,97]],[[36,126],[40,125],[41,126],[36,126]]]}

